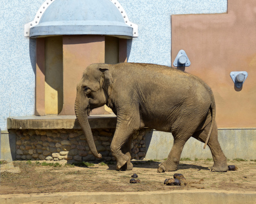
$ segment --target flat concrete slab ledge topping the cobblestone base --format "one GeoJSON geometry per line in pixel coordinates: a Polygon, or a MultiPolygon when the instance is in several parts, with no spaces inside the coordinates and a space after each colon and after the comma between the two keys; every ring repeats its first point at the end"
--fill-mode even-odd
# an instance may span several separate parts
{"type": "MultiPolygon", "coordinates": [[[[116,127],[116,115],[92,115],[88,117],[91,129],[116,127]]],[[[76,116],[26,116],[7,119],[7,129],[81,129],[76,116]]]]}

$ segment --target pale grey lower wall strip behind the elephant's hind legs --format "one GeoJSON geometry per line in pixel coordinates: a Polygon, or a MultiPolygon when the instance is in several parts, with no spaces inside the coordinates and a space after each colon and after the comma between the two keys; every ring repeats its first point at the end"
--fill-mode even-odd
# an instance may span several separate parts
{"type": "MultiPolygon", "coordinates": [[[[219,129],[218,140],[227,159],[241,158],[246,160],[256,159],[256,129],[219,129]]],[[[145,159],[165,159],[173,146],[171,133],[155,130],[146,132],[145,159]]],[[[208,159],[212,158],[208,146],[203,149],[204,143],[190,138],[181,154],[181,158],[208,159]]]]}

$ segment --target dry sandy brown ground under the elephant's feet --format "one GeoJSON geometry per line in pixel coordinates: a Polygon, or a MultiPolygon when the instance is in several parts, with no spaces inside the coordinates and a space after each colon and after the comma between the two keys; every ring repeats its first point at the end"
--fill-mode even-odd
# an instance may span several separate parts
{"type": "MultiPolygon", "coordinates": [[[[117,171],[115,163],[94,163],[87,167],[43,161],[14,161],[19,173],[11,173],[1,167],[0,194],[27,194],[50,192],[138,192],[174,190],[228,190],[256,191],[255,161],[229,161],[236,171],[211,172],[212,161],[181,161],[176,172],[158,173],[162,161],[132,161],[132,171],[117,171]],[[43,165],[45,164],[45,166],[43,165]],[[130,184],[131,175],[136,173],[140,183],[130,184]],[[164,180],[174,173],[182,173],[186,186],[166,186],[164,180]]],[[[81,165],[81,163],[80,163],[81,165]]],[[[42,202],[41,202],[42,203],[42,202]]]]}

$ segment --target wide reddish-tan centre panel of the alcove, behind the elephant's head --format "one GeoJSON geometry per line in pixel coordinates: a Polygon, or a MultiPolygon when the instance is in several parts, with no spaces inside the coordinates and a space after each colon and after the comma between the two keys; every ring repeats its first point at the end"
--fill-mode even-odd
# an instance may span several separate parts
{"type": "Polygon", "coordinates": [[[105,61],[104,36],[63,36],[63,109],[60,115],[74,115],[76,85],[87,66],[105,61]]]}

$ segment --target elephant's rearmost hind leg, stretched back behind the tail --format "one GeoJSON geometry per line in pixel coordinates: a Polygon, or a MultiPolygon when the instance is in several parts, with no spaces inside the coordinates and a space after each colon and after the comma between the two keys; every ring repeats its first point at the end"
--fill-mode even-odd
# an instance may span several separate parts
{"type": "MultiPolygon", "coordinates": [[[[207,143],[211,151],[212,159],[214,159],[214,165],[210,169],[211,171],[226,172],[228,170],[227,160],[218,141],[218,129],[216,122],[213,122],[214,127],[207,143]]],[[[196,132],[193,137],[204,143],[206,141],[209,129],[210,123],[206,125],[203,130],[196,132]]]]}

